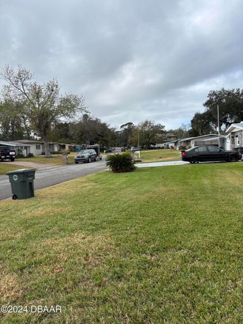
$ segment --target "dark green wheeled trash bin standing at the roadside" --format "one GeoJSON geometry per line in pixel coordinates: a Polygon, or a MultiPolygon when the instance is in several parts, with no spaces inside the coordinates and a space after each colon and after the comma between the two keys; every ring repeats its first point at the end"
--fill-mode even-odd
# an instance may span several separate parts
{"type": "Polygon", "coordinates": [[[34,174],[34,169],[20,169],[6,173],[11,183],[13,199],[26,199],[34,196],[34,174]]]}

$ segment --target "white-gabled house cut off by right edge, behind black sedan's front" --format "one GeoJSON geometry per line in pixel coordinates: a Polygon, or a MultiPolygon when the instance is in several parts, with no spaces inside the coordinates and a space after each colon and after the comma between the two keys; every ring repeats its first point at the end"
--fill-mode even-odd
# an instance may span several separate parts
{"type": "Polygon", "coordinates": [[[227,150],[243,147],[243,121],[231,124],[226,130],[227,150]]]}

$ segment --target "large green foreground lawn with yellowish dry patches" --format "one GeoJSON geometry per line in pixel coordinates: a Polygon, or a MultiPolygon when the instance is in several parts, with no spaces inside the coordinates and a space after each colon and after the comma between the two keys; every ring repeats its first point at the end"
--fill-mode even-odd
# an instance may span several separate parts
{"type": "Polygon", "coordinates": [[[242,323],[242,163],[105,171],[1,207],[3,323],[242,323]]]}

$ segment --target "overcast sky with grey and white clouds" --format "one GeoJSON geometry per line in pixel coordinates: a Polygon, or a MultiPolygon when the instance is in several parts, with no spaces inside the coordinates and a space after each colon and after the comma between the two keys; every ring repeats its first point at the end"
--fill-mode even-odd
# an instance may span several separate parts
{"type": "MultiPolygon", "coordinates": [[[[242,0],[0,0],[0,68],[57,77],[111,126],[190,123],[243,87],[242,0]]],[[[1,81],[1,85],[3,82],[1,81]]]]}

